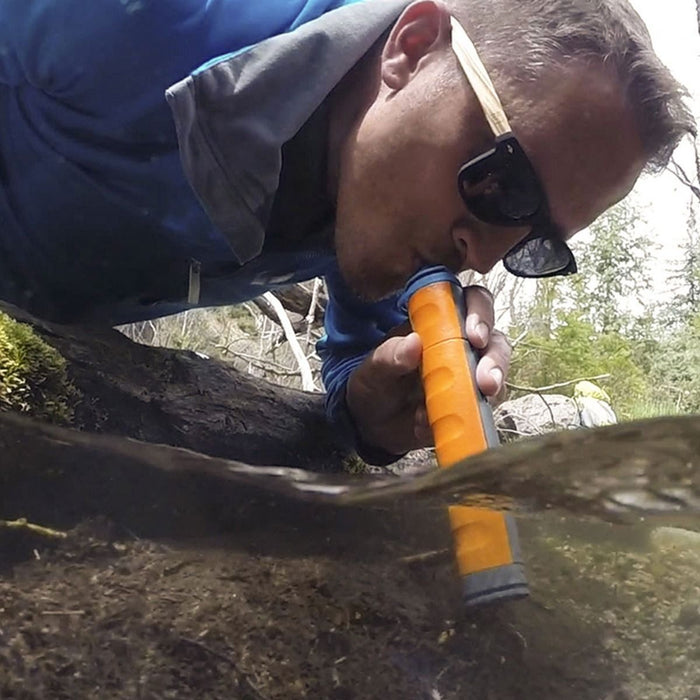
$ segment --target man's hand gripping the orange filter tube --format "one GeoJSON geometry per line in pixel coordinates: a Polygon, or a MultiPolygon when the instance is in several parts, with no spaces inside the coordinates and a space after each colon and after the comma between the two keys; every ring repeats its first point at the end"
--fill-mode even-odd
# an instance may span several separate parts
{"type": "MultiPolygon", "coordinates": [[[[483,287],[464,290],[467,338],[481,354],[476,382],[486,396],[502,388],[510,365],[506,337],[493,329],[493,298],[483,287]]],[[[433,442],[418,372],[422,345],[408,324],[396,329],[352,373],[347,404],[362,439],[393,454],[433,442]]]]}

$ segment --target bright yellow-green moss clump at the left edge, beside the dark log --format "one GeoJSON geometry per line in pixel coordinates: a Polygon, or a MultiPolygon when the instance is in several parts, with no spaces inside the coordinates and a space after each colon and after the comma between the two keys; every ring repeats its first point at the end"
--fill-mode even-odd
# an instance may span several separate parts
{"type": "Polygon", "coordinates": [[[79,398],[63,357],[30,326],[0,312],[0,410],[70,423],[79,398]]]}

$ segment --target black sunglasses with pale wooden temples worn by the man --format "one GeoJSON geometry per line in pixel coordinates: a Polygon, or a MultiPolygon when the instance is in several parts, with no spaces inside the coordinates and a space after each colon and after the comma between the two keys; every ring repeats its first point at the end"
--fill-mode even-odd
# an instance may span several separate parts
{"type": "Polygon", "coordinates": [[[493,148],[459,170],[459,193],[469,211],[496,226],[528,226],[530,233],[503,257],[518,277],[576,272],[576,260],[552,221],[547,195],[530,159],[511,131],[484,64],[462,25],[452,19],[452,48],[495,137],[493,148]]]}

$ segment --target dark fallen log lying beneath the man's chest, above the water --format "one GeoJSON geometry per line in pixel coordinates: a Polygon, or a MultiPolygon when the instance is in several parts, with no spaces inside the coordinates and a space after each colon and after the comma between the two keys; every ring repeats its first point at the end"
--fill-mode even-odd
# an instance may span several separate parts
{"type": "MultiPolygon", "coordinates": [[[[65,373],[59,394],[74,391],[66,387],[79,392],[75,427],[251,464],[334,471],[346,456],[326,423],[321,395],[278,387],[191,352],[138,345],[112,329],[45,323],[5,304],[0,311],[31,327],[30,334],[20,326],[25,345],[42,349],[34,364],[48,358],[51,376],[65,373]]],[[[70,408],[76,396],[70,394],[70,408]]],[[[68,403],[64,408],[63,418],[68,403]]]]}

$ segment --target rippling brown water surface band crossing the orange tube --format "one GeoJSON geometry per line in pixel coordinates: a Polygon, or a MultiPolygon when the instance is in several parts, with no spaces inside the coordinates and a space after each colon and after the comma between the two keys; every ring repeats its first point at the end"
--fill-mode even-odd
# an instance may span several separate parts
{"type": "Polygon", "coordinates": [[[194,472],[265,491],[333,505],[421,499],[614,519],[700,515],[700,416],[653,418],[595,430],[561,431],[514,442],[419,476],[316,474],[291,467],[252,466],[117,436],[28,424],[2,416],[16,434],[41,436],[56,449],[120,457],[164,473],[194,472]]]}

